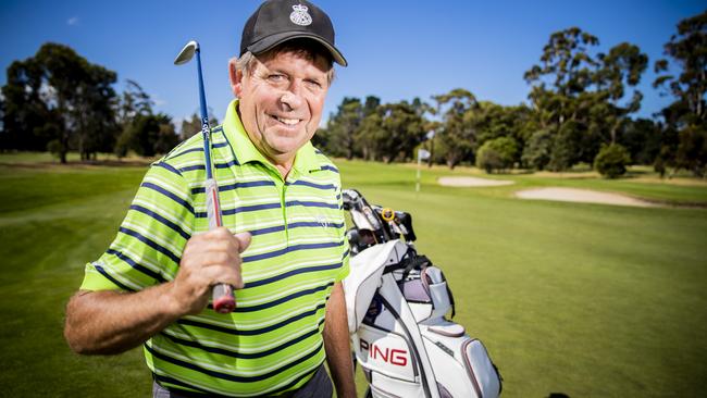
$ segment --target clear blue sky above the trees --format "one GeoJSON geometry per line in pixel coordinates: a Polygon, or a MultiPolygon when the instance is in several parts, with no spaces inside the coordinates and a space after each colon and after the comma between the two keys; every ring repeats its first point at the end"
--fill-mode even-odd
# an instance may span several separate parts
{"type": "MultiPolygon", "coordinates": [[[[32,57],[46,41],[71,46],[92,63],[138,82],[157,110],[175,120],[198,111],[196,66],[174,66],[184,43],[197,39],[208,103],[219,119],[233,98],[226,63],[260,1],[9,1],[0,2],[0,85],[14,60],[32,57]]],[[[538,62],[554,32],[579,26],[597,36],[598,50],[637,45],[650,67],[640,89],[642,116],[669,103],[650,87],[653,62],[677,23],[707,9],[704,1],[334,1],[317,2],[336,28],[349,61],[337,70],[325,113],[344,97],[411,100],[462,87],[480,100],[526,101],[523,72],[538,62]]]]}

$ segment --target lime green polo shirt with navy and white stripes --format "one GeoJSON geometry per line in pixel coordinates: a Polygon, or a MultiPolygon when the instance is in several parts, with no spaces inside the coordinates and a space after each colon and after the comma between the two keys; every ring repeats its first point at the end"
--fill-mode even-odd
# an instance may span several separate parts
{"type": "MultiPolygon", "coordinates": [[[[322,331],[334,283],[348,273],[338,170],[307,142],[286,179],[252,145],[228,105],[212,132],[223,224],[250,232],[245,287],[231,314],[211,304],[145,343],[169,388],[257,396],[303,385],[325,359],[322,331]]],[[[154,162],[82,289],[137,291],[174,279],[190,236],[209,229],[203,141],[197,134],[154,162]]]]}

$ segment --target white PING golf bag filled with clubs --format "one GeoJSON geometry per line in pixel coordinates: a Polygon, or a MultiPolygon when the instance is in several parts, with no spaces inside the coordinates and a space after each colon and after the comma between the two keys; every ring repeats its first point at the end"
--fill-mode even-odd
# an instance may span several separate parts
{"type": "Polygon", "coordinates": [[[486,348],[445,319],[454,298],[442,270],[417,253],[411,215],[370,206],[357,190],[343,198],[355,225],[344,290],[367,397],[497,397],[486,348]]]}

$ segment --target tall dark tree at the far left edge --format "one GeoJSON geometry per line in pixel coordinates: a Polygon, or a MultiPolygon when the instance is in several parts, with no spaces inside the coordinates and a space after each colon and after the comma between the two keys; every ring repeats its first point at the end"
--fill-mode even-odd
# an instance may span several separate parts
{"type": "Polygon", "coordinates": [[[114,116],[116,74],[89,63],[73,49],[42,45],[35,57],[8,69],[2,147],[52,149],[62,163],[76,148],[89,159],[107,146],[117,129],[114,116]]]}

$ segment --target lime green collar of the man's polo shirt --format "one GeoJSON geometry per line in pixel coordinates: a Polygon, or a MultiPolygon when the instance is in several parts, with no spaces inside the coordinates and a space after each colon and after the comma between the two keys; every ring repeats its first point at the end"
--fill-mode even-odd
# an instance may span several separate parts
{"type": "MultiPolygon", "coordinates": [[[[263,156],[258,148],[252,144],[250,137],[246,133],[246,128],[240,122],[240,117],[237,112],[238,100],[234,99],[228,104],[226,110],[226,116],[223,121],[223,130],[226,135],[226,138],[233,147],[233,151],[236,154],[238,163],[245,164],[248,162],[261,162],[266,165],[274,166],[265,156],[263,156]]],[[[317,160],[317,152],[314,151],[314,146],[312,142],[307,141],[301,148],[297,150],[295,154],[295,162],[293,169],[299,172],[300,174],[306,174],[311,171],[320,170],[321,165],[317,160]]]]}

